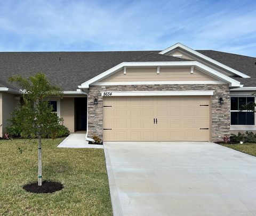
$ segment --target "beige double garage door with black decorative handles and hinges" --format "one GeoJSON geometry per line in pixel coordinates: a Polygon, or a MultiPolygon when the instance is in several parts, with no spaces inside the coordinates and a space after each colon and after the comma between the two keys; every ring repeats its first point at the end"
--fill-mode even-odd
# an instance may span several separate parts
{"type": "Polygon", "coordinates": [[[209,96],[103,97],[104,141],[209,141],[209,96]]]}

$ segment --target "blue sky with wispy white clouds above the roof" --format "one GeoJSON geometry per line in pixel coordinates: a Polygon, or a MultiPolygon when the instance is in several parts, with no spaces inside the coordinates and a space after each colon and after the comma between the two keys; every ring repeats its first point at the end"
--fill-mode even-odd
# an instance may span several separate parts
{"type": "Polygon", "coordinates": [[[163,50],[175,43],[256,57],[255,1],[0,2],[0,51],[163,50]]]}

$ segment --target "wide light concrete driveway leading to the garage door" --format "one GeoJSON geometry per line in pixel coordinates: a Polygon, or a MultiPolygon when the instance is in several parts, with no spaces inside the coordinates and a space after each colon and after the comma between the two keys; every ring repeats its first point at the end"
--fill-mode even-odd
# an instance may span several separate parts
{"type": "Polygon", "coordinates": [[[256,157],[206,142],[104,149],[114,215],[256,215],[256,157]]]}

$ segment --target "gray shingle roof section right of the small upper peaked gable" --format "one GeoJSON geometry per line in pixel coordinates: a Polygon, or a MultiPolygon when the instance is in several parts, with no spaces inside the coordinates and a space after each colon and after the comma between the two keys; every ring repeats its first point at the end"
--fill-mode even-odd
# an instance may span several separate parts
{"type": "Polygon", "coordinates": [[[244,87],[255,87],[256,86],[256,57],[237,55],[212,50],[197,50],[215,61],[227,65],[239,72],[242,72],[251,78],[240,78],[234,77],[234,79],[241,82],[244,87]]]}

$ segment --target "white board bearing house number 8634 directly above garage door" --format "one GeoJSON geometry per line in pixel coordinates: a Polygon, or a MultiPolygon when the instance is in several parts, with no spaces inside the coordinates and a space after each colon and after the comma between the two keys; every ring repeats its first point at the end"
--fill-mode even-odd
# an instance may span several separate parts
{"type": "Polygon", "coordinates": [[[213,95],[214,90],[184,90],[184,91],[133,91],[133,92],[101,92],[101,96],[187,96],[187,95],[213,95]],[[107,93],[107,94],[106,94],[107,93]]]}

